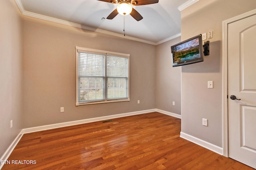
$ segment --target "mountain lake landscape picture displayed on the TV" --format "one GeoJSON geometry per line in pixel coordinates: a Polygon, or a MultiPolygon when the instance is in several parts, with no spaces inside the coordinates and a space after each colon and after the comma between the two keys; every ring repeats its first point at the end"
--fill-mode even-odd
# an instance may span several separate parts
{"type": "Polygon", "coordinates": [[[199,38],[172,47],[173,63],[200,58],[199,38]]]}

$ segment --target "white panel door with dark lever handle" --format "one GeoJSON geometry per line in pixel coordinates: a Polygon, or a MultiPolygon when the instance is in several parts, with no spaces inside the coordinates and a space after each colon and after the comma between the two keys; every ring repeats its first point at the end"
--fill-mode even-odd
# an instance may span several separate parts
{"type": "Polygon", "coordinates": [[[229,157],[256,168],[256,15],[228,24],[228,98],[229,157]]]}

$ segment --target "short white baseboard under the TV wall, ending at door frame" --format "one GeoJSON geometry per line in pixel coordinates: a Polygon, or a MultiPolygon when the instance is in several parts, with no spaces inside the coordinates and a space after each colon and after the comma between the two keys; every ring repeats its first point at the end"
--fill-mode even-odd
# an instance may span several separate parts
{"type": "Polygon", "coordinates": [[[183,132],[180,132],[180,137],[183,138],[183,139],[186,139],[186,140],[188,140],[192,143],[200,145],[201,147],[212,150],[213,152],[216,152],[217,154],[223,155],[223,149],[221,147],[213,145],[212,143],[203,141],[202,139],[196,138],[194,136],[188,135],[188,134],[183,133],[183,132]]]}

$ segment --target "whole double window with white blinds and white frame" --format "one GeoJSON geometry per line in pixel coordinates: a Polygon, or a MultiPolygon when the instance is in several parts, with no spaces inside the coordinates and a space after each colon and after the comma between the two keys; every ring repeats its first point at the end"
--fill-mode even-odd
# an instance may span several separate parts
{"type": "Polygon", "coordinates": [[[129,56],[76,47],[76,106],[130,101],[129,56]]]}

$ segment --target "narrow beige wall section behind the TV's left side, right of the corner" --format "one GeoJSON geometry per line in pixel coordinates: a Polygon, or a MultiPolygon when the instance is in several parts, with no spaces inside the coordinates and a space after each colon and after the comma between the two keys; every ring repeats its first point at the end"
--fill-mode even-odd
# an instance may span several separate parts
{"type": "Polygon", "coordinates": [[[172,67],[171,46],[179,42],[177,37],[156,46],[156,108],[178,115],[181,114],[181,67],[172,67]]]}

